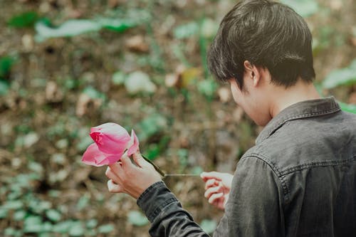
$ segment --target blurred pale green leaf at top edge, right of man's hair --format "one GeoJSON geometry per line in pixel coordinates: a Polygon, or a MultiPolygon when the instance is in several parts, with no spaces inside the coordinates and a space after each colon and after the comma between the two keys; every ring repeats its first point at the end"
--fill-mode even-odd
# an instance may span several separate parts
{"type": "Polygon", "coordinates": [[[290,6],[303,17],[311,16],[319,11],[318,2],[315,0],[281,0],[281,2],[290,6]]]}

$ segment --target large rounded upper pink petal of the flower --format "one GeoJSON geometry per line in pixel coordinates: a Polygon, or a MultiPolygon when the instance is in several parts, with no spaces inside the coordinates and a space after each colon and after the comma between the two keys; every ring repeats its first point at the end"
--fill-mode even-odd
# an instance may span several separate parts
{"type": "Polygon", "coordinates": [[[93,138],[100,151],[107,154],[122,154],[127,147],[127,143],[130,142],[130,135],[125,128],[114,122],[92,127],[90,137],[93,138]]]}

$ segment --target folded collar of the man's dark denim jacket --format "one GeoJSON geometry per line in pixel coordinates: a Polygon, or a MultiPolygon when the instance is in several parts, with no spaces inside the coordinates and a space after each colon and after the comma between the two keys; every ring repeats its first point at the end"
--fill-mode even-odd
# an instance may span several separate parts
{"type": "Polygon", "coordinates": [[[256,144],[263,142],[264,139],[267,139],[290,120],[328,115],[338,111],[340,111],[340,106],[337,104],[333,96],[316,100],[305,100],[290,105],[268,122],[260,135],[258,135],[256,144]]]}

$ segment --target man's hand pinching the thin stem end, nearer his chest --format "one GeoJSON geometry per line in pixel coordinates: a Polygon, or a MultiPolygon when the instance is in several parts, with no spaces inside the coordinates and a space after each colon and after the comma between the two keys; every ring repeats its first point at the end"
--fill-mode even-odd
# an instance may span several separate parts
{"type": "Polygon", "coordinates": [[[221,172],[203,172],[200,174],[205,182],[205,194],[209,204],[224,210],[232,183],[232,174],[221,172]]]}

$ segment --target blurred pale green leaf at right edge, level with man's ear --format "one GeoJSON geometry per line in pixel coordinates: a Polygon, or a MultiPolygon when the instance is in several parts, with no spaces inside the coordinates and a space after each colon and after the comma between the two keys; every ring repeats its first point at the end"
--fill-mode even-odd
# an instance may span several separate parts
{"type": "Polygon", "coordinates": [[[323,80],[323,88],[331,89],[339,85],[354,85],[356,83],[356,59],[349,66],[333,70],[323,80]]]}

